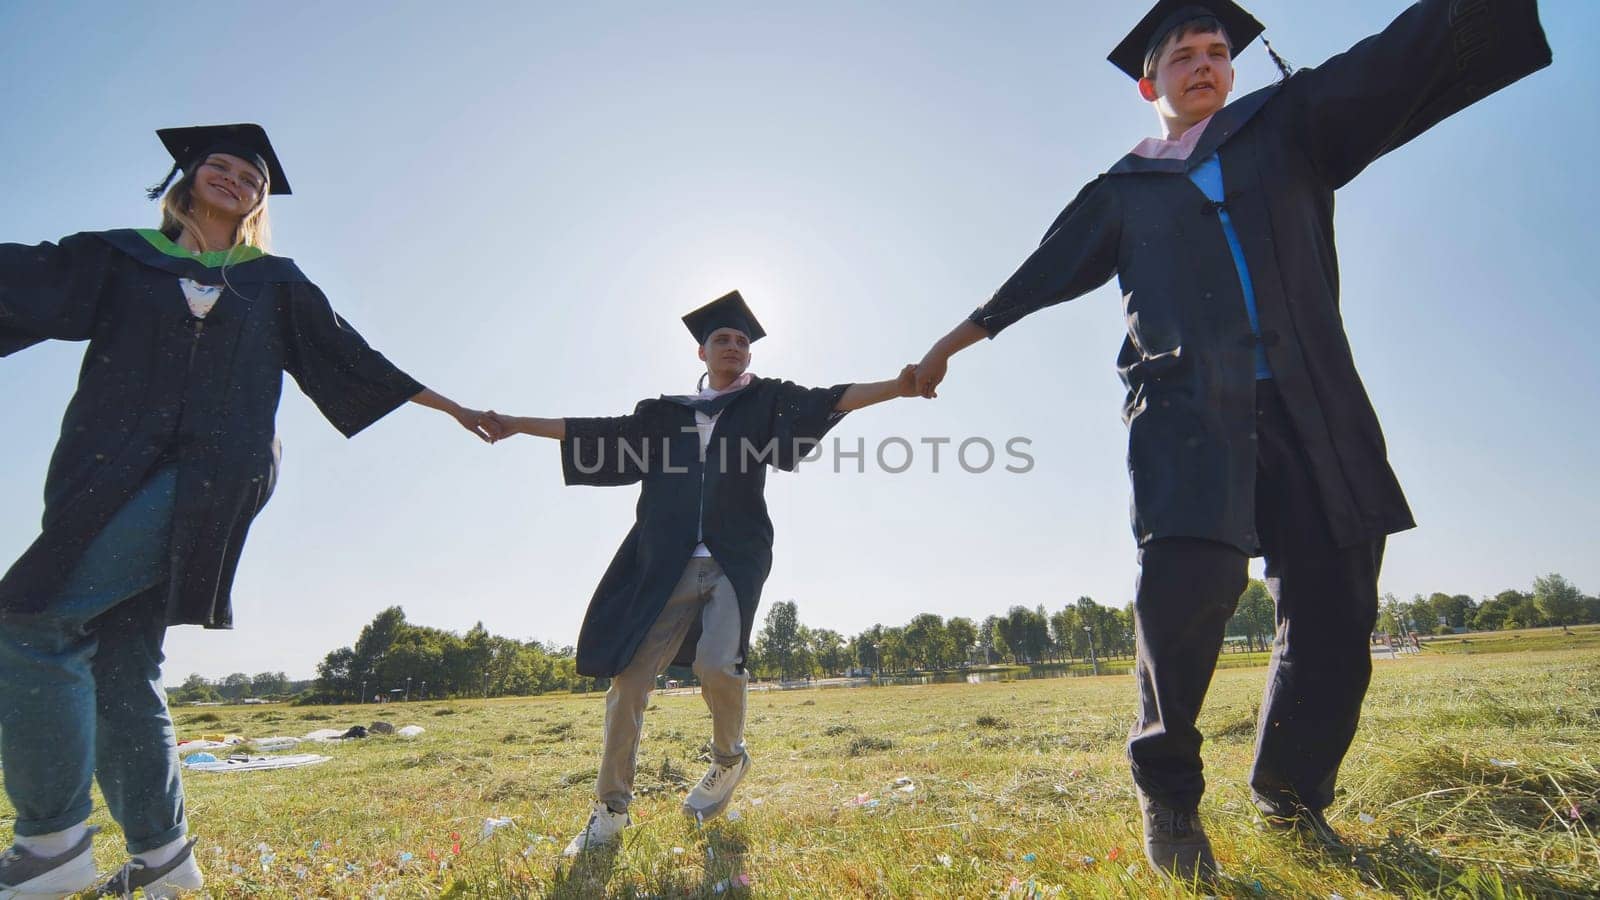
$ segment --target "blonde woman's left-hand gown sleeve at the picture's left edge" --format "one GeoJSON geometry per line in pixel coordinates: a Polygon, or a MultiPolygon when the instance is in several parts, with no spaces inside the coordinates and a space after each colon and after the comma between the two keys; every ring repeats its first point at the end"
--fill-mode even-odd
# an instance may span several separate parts
{"type": "Polygon", "coordinates": [[[0,356],[40,341],[90,340],[112,253],[90,234],[32,247],[0,243],[0,356]]]}

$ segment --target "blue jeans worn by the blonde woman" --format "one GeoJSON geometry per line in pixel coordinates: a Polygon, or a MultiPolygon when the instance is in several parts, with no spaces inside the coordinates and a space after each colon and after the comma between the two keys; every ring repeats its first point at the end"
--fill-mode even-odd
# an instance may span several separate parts
{"type": "Polygon", "coordinates": [[[0,759],[16,833],[90,817],[98,775],[130,854],[184,834],[162,687],[178,469],[154,472],[83,551],[43,613],[0,620],[0,759]]]}

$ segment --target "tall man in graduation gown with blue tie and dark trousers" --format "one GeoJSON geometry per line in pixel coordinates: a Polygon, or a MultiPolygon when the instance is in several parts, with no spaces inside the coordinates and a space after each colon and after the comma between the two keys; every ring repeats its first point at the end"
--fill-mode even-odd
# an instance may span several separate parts
{"type": "Polygon", "coordinates": [[[1278,621],[1251,791],[1272,825],[1333,839],[1384,538],[1413,527],[1339,319],[1334,191],[1550,61],[1534,0],[1422,0],[1315,69],[1274,54],[1286,77],[1224,106],[1259,32],[1230,0],[1157,3],[1110,61],[1165,139],[1085,186],[918,365],[931,396],[954,352],[1117,275],[1141,564],[1128,756],[1149,857],[1184,878],[1214,871],[1195,717],[1248,559],[1278,621]]]}

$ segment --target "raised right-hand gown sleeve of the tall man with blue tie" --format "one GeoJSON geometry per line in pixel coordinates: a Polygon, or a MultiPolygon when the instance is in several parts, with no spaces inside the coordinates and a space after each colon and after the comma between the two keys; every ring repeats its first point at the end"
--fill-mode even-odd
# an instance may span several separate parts
{"type": "Polygon", "coordinates": [[[1285,83],[1301,149],[1330,187],[1550,64],[1536,0],[1422,0],[1285,83]]]}

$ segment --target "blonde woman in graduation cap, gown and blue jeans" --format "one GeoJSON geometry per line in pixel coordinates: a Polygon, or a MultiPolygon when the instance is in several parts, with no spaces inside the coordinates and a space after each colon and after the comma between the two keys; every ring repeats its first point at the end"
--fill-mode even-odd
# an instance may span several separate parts
{"type": "Polygon", "coordinates": [[[0,580],[0,756],[16,810],[0,900],[94,886],[96,777],[131,855],[102,889],[202,887],[162,641],[170,625],[232,628],[238,554],[277,476],[285,372],[346,436],[410,400],[486,437],[482,413],[395,368],[266,251],[267,197],[290,192],[266,131],[158,135],[174,160],[150,191],[165,194],[160,229],[0,245],[0,356],[88,341],[42,533],[0,580]]]}

